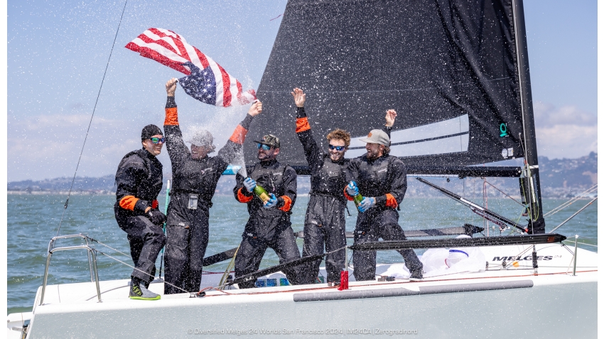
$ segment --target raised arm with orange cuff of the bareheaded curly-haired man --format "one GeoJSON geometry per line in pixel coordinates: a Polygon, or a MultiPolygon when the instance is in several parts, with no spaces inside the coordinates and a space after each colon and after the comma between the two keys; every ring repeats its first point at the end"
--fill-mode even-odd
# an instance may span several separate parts
{"type": "Polygon", "coordinates": [[[308,123],[308,117],[306,116],[306,111],[304,111],[306,94],[301,89],[295,88],[291,92],[291,95],[293,96],[293,101],[296,103],[296,134],[304,148],[306,162],[308,162],[308,166],[313,168],[320,164],[322,152],[315,138],[313,138],[311,125],[308,123]]]}

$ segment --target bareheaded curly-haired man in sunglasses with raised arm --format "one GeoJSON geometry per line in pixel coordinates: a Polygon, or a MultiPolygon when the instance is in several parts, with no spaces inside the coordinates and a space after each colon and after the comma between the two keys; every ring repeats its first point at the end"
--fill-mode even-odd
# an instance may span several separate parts
{"type": "MultiPolygon", "coordinates": [[[[304,147],[304,155],[311,169],[311,191],[304,219],[304,247],[302,257],[333,252],[325,257],[325,270],[329,284],[340,284],[340,272],[345,269],[346,220],[344,210],[347,200],[343,190],[347,185],[345,167],[350,160],[344,153],[350,145],[350,133],[333,130],[327,135],[329,152],[323,152],[313,138],[311,126],[304,111],[306,94],[301,89],[291,93],[296,102],[296,134],[304,147]],[[339,149],[339,150],[338,150],[339,149]]],[[[321,260],[308,262],[302,274],[302,284],[316,282],[321,260]]]]}

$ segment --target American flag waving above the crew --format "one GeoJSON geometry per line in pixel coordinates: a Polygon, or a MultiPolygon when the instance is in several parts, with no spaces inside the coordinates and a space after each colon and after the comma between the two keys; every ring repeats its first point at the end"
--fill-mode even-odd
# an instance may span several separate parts
{"type": "Polygon", "coordinates": [[[206,104],[229,107],[248,104],[256,99],[253,89],[243,91],[241,83],[217,62],[171,30],[149,28],[129,42],[126,48],[187,74],[187,77],[178,79],[180,86],[187,94],[206,104]]]}

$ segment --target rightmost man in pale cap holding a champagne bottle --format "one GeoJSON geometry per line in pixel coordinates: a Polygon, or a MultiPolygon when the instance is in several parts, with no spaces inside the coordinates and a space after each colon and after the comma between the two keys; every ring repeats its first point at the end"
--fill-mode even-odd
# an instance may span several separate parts
{"type": "MultiPolygon", "coordinates": [[[[390,109],[386,113],[387,128],[372,130],[367,138],[367,153],[350,161],[347,167],[347,181],[344,190],[348,200],[361,194],[355,227],[355,244],[384,240],[406,240],[399,225],[397,209],[403,201],[407,189],[406,168],[402,160],[389,155],[390,133],[397,112],[390,109]]],[[[412,280],[423,279],[423,266],[414,250],[398,250],[411,272],[412,280]]],[[[355,265],[355,279],[375,279],[375,251],[355,251],[352,260],[355,265]]]]}

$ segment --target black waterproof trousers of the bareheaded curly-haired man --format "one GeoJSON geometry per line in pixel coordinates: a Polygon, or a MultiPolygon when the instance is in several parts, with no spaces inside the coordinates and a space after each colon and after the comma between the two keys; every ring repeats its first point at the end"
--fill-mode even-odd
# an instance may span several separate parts
{"type": "MultiPolygon", "coordinates": [[[[302,256],[323,254],[338,250],[346,245],[345,202],[326,194],[311,194],[304,220],[304,247],[302,256]]],[[[327,282],[340,282],[340,271],[344,270],[345,249],[325,256],[327,282]]],[[[314,284],[322,260],[308,262],[301,272],[301,284],[314,284]]]]}

